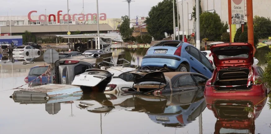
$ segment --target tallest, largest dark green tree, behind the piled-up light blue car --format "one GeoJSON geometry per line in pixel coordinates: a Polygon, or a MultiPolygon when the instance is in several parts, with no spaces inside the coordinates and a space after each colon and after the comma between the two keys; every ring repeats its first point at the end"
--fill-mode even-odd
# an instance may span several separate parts
{"type": "MultiPolygon", "coordinates": [[[[174,0],[176,3],[176,0],[174,0]]],[[[175,9],[175,24],[177,23],[177,6],[174,4],[175,9]]],[[[149,16],[146,18],[147,30],[150,35],[156,40],[165,38],[165,32],[172,34],[173,30],[173,4],[172,0],[163,0],[156,6],[151,7],[149,16]]]]}

